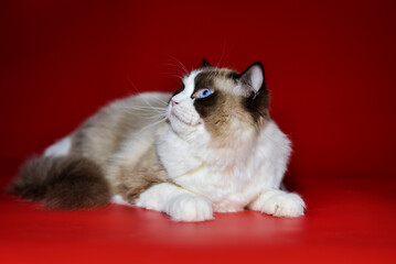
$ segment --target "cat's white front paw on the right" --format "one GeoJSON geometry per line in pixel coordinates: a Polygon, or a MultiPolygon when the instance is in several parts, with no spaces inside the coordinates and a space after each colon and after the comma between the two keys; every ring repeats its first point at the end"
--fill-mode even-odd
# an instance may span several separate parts
{"type": "Polygon", "coordinates": [[[301,217],[306,204],[297,194],[279,189],[266,189],[253,200],[248,208],[275,217],[301,217]]]}

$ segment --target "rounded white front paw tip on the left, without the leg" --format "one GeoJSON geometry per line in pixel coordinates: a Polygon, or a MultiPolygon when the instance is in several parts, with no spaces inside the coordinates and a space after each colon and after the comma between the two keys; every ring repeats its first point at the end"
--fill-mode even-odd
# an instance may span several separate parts
{"type": "Polygon", "coordinates": [[[211,202],[199,196],[178,195],[165,207],[165,212],[175,221],[199,222],[213,219],[211,202]]]}

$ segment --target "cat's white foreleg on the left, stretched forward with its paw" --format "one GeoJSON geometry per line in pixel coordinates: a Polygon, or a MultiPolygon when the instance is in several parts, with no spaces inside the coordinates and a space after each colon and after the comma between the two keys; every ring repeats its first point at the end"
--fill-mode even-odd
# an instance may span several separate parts
{"type": "Polygon", "coordinates": [[[139,196],[135,205],[165,212],[175,221],[193,222],[213,219],[210,200],[170,183],[150,187],[139,196]]]}

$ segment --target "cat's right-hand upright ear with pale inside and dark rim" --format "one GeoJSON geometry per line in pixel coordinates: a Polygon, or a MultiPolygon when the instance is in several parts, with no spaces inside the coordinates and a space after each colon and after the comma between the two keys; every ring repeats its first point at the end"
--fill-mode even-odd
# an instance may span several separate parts
{"type": "Polygon", "coordinates": [[[263,64],[260,62],[251,64],[237,78],[243,84],[243,88],[248,96],[257,95],[261,87],[265,86],[263,64]]]}

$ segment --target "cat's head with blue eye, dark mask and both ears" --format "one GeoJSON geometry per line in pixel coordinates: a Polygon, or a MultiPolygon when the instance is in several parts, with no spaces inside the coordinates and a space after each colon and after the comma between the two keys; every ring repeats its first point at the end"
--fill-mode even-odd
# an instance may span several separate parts
{"type": "Polygon", "coordinates": [[[238,73],[211,66],[203,59],[202,68],[183,78],[167,116],[178,134],[206,133],[211,139],[233,140],[265,125],[268,105],[261,63],[238,73]]]}

